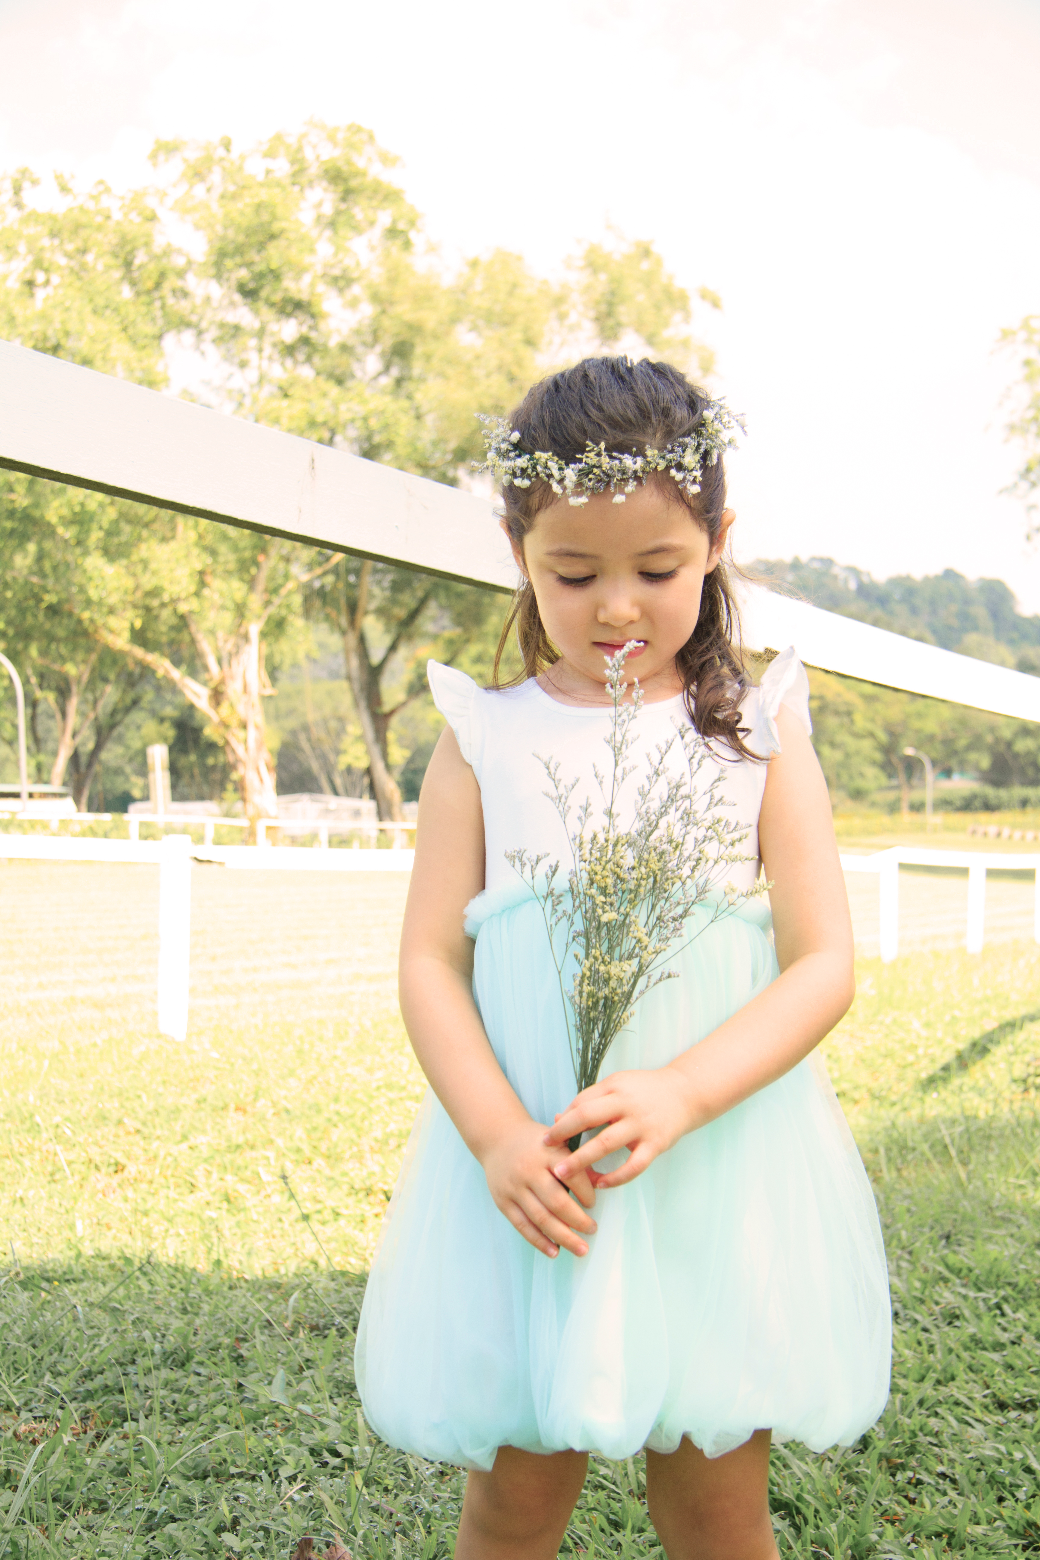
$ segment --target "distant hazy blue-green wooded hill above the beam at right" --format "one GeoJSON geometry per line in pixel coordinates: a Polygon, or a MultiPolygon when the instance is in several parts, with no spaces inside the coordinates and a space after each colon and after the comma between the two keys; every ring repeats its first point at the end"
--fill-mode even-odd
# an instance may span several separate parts
{"type": "Polygon", "coordinates": [[[1040,674],[1040,616],[1017,612],[1003,580],[968,580],[956,569],[923,579],[893,574],[875,580],[834,558],[759,558],[747,573],[781,582],[828,612],[1040,674]]]}

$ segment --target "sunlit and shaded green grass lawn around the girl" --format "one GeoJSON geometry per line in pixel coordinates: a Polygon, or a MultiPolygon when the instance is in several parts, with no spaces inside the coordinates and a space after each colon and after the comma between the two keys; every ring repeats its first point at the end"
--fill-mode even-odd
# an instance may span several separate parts
{"type": "MultiPolygon", "coordinates": [[[[402,894],[196,872],[178,1047],[154,872],[0,866],[0,1560],[451,1554],[462,1476],[374,1443],[351,1373],[423,1089],[402,894]]],[[[776,1449],[781,1554],[1040,1554],[1040,950],[862,961],[825,1053],[886,1226],[893,1390],[858,1446],[776,1449]]],[[[641,1493],[639,1459],[594,1459],[563,1552],[660,1555],[641,1493]]]]}

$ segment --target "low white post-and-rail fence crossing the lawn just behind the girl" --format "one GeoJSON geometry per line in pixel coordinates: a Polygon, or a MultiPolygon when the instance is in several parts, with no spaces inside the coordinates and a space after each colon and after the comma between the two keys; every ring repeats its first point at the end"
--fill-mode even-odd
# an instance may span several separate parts
{"type": "MultiPolygon", "coordinates": [[[[0,861],[111,861],[159,867],[159,1033],[184,1041],[189,1020],[192,863],[209,861],[232,870],[279,872],[410,872],[413,850],[307,850],[299,847],[195,846],[190,835],[157,841],[75,839],[55,835],[0,833],[0,861]]],[[[918,850],[893,847],[873,855],[842,853],[848,874],[878,878],[879,952],[890,963],[900,952],[900,867],[954,867],[967,872],[968,905],[965,948],[979,953],[985,936],[985,878],[989,872],[1032,872],[1032,934],[1040,942],[1040,853],[973,850],[918,850]]]]}

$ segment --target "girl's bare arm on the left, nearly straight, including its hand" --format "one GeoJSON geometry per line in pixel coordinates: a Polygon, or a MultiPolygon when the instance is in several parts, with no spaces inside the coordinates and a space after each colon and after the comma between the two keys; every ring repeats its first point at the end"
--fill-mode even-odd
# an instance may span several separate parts
{"type": "MultiPolygon", "coordinates": [[[[451,730],[443,732],[419,796],[419,827],[401,931],[399,994],[405,1028],[430,1087],[480,1161],[505,1217],[539,1251],[585,1256],[578,1232],[596,1223],[552,1175],[544,1143],[510,1087],[472,1000],[472,942],[463,911],[483,888],[480,788],[451,730]]],[[[591,1207],[591,1181],[569,1181],[591,1207]]]]}

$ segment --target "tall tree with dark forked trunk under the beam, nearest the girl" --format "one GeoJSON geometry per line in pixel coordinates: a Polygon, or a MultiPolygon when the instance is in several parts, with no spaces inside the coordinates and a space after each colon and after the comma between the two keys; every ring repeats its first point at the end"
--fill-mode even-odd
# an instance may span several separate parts
{"type": "MultiPolygon", "coordinates": [[[[170,144],[156,158],[204,240],[189,276],[196,339],[226,365],[229,404],[265,423],[457,484],[482,452],[474,413],[507,412],[571,349],[625,339],[694,353],[691,298],[646,242],[589,245],[561,287],[504,251],[447,273],[385,179],[391,159],[356,125],[315,123],[245,153],[170,144]]],[[[458,654],[501,604],[345,562],[312,605],[341,636],[380,816],[399,817],[388,733],[419,691],[418,647],[458,654]],[[404,686],[388,697],[393,679],[404,686]]]]}

